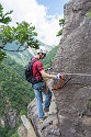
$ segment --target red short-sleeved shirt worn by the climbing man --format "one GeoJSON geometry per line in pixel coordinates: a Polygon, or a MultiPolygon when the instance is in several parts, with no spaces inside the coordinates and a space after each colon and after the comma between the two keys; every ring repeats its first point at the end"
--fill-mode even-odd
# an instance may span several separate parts
{"type": "Polygon", "coordinates": [[[32,60],[33,59],[37,59],[33,64],[33,76],[35,76],[36,79],[43,79],[41,75],[41,71],[44,70],[43,62],[37,57],[32,58],[32,60]]]}

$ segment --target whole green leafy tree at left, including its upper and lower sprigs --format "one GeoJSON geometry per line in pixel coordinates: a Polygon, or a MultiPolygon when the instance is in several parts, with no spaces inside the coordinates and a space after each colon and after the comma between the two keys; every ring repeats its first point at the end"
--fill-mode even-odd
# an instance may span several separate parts
{"type": "Polygon", "coordinates": [[[13,11],[3,13],[3,8],[0,4],[0,61],[7,56],[5,45],[8,43],[13,43],[19,45],[18,49],[9,52],[23,52],[29,47],[38,48],[39,43],[35,38],[37,33],[35,32],[35,26],[29,24],[25,21],[21,23],[16,22],[16,26],[10,26],[11,18],[9,16],[13,11]],[[23,49],[21,49],[21,46],[23,49]]]}

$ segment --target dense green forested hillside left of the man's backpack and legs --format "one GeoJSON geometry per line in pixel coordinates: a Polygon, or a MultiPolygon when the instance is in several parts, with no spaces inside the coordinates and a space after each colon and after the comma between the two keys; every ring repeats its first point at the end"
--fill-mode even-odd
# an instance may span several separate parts
{"type": "Polygon", "coordinates": [[[0,65],[0,115],[3,115],[7,100],[10,107],[26,112],[27,104],[34,99],[31,84],[24,78],[24,68],[11,58],[0,65]],[[4,99],[4,100],[3,100],[4,99]]]}

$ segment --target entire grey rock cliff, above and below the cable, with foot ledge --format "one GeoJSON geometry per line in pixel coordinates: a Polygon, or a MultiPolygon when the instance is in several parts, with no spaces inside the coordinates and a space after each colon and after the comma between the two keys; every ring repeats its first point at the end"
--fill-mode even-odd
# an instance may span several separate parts
{"type": "Polygon", "coordinates": [[[91,0],[70,0],[64,10],[64,34],[53,68],[55,72],[71,73],[72,79],[54,91],[57,121],[41,128],[43,134],[34,105],[29,112],[38,137],[91,137],[91,18],[87,15],[91,0]]]}

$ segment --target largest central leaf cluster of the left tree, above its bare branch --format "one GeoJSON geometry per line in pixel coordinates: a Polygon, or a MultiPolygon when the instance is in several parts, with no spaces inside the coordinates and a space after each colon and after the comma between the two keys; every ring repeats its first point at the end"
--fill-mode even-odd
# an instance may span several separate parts
{"type": "MultiPolygon", "coordinates": [[[[20,47],[24,46],[23,50],[29,48],[29,46],[38,48],[38,41],[34,39],[34,36],[37,36],[35,26],[31,26],[27,22],[23,21],[22,23],[16,23],[16,27],[11,27],[9,25],[1,26],[1,30],[0,38],[2,46],[7,43],[15,42],[15,44],[20,44],[20,47]]],[[[20,52],[20,47],[16,52],[20,52]]]]}

